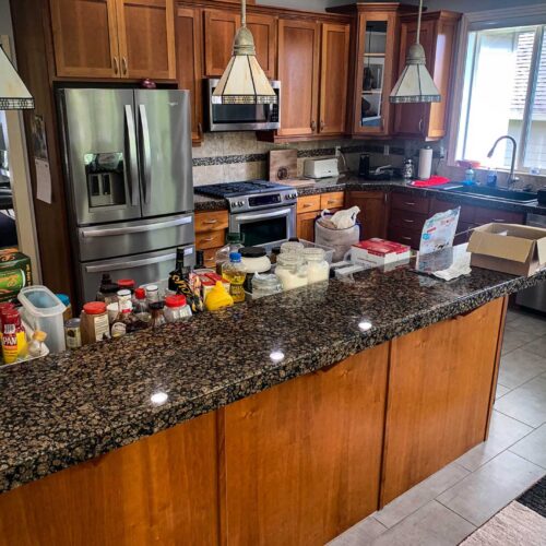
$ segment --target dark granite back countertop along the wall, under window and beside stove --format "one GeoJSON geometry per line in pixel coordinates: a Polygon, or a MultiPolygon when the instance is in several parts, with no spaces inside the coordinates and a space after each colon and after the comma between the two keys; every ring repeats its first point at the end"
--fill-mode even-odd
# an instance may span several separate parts
{"type": "MultiPolygon", "coordinates": [[[[402,179],[390,181],[369,181],[356,175],[342,175],[335,178],[324,178],[317,180],[313,186],[298,188],[298,195],[314,195],[317,193],[328,193],[331,191],[402,191],[413,195],[437,197],[443,201],[450,201],[456,204],[468,204],[474,206],[484,206],[486,209],[496,209],[501,211],[512,211],[521,213],[532,213],[546,215],[546,206],[524,203],[510,203],[500,201],[490,197],[464,195],[460,193],[448,192],[435,188],[415,188],[407,185],[402,179]]],[[[217,211],[227,209],[227,203],[223,199],[207,198],[205,195],[194,194],[195,211],[217,211]]]]}

